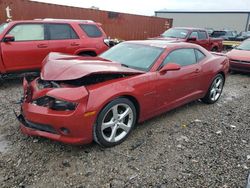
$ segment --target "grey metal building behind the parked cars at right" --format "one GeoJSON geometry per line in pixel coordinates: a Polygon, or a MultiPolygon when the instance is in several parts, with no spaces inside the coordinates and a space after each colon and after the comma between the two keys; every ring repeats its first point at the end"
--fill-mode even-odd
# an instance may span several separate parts
{"type": "Polygon", "coordinates": [[[232,29],[250,31],[250,11],[155,11],[155,16],[173,18],[174,27],[232,29]]]}

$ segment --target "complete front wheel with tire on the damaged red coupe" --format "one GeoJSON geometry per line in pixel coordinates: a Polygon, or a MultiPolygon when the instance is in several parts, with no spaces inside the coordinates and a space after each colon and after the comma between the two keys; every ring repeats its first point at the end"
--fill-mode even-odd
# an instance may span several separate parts
{"type": "Polygon", "coordinates": [[[134,128],[136,122],[134,104],[126,98],[117,98],[107,104],[97,117],[94,126],[94,140],[103,147],[122,143],[134,128]]]}

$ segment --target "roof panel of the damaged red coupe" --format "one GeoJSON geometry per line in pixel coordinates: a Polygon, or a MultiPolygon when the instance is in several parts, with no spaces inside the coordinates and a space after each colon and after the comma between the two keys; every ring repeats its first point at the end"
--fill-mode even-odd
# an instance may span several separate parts
{"type": "Polygon", "coordinates": [[[165,41],[165,40],[133,40],[133,41],[126,41],[125,43],[141,44],[157,48],[167,48],[167,47],[199,48],[199,45],[197,44],[179,42],[179,41],[165,41]]]}

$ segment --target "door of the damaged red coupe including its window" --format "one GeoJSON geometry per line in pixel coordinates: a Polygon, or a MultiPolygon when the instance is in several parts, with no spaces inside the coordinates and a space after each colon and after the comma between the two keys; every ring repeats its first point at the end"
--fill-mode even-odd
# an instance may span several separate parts
{"type": "Polygon", "coordinates": [[[158,106],[172,109],[183,103],[196,99],[200,93],[199,77],[201,66],[197,63],[194,49],[176,49],[168,54],[163,65],[176,63],[180,70],[157,73],[158,106]]]}

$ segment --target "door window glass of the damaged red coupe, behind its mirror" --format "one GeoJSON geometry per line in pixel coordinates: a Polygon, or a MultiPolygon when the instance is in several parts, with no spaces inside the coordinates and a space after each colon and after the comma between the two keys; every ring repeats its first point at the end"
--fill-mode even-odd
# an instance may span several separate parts
{"type": "Polygon", "coordinates": [[[196,63],[196,56],[194,49],[178,49],[170,52],[163,64],[177,63],[181,66],[192,65],[196,63]]]}

